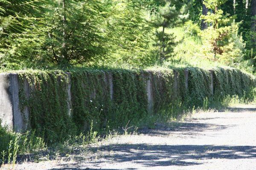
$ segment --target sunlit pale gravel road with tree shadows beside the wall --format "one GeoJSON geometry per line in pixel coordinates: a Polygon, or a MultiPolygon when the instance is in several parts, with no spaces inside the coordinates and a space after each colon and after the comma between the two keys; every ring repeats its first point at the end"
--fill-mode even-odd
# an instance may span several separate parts
{"type": "MultiPolygon", "coordinates": [[[[78,149],[79,150],[79,149],[78,149]]],[[[81,151],[81,150],[80,150],[81,151]]],[[[175,126],[93,144],[72,157],[15,167],[37,170],[255,170],[256,106],[197,113],[175,126]]]]}

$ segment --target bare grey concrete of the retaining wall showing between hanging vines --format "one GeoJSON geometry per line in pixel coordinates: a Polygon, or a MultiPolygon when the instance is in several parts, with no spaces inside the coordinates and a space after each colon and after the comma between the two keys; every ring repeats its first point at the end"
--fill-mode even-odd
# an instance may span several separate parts
{"type": "MultiPolygon", "coordinates": [[[[153,111],[154,106],[154,98],[153,98],[153,90],[154,85],[152,84],[152,77],[151,71],[146,71],[148,74],[144,75],[145,78],[145,90],[148,97],[148,113],[153,111]]],[[[72,112],[72,99],[71,99],[71,82],[70,82],[70,73],[67,74],[67,105],[69,108],[69,113],[72,112]]],[[[184,78],[185,78],[185,88],[188,89],[188,78],[189,78],[189,71],[184,71],[184,78]]],[[[211,77],[211,93],[213,95],[213,71],[209,71],[211,77]]],[[[0,74],[0,118],[3,120],[1,123],[2,125],[8,125],[15,131],[25,130],[26,126],[28,125],[29,120],[29,108],[20,108],[19,107],[19,88],[20,83],[23,83],[23,88],[25,92],[26,98],[29,98],[30,95],[30,87],[29,82],[27,79],[24,79],[24,82],[19,82],[17,74],[13,73],[2,73],[0,74]]],[[[105,84],[109,85],[110,87],[110,96],[111,100],[113,100],[113,75],[111,72],[105,72],[104,78],[105,84]]],[[[180,76],[177,71],[174,71],[174,88],[175,92],[179,93],[180,89],[179,82],[180,76]]],[[[95,98],[96,94],[91,94],[92,98],[95,98]]],[[[71,114],[70,114],[71,115],[71,114]]]]}

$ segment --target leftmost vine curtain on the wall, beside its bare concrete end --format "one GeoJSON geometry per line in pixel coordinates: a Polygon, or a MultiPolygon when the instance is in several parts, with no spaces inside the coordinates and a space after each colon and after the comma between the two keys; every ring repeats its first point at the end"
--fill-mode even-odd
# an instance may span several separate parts
{"type": "Polygon", "coordinates": [[[24,95],[23,83],[20,83],[20,108],[29,108],[29,128],[36,130],[47,142],[64,139],[76,131],[68,116],[67,76],[64,72],[32,71],[20,72],[20,82],[29,83],[29,97],[24,95]],[[22,87],[23,86],[23,87],[22,87]]]}

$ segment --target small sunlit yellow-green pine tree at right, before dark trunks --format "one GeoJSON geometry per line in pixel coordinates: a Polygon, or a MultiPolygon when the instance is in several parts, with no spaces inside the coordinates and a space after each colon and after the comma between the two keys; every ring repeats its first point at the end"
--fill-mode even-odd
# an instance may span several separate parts
{"type": "Polygon", "coordinates": [[[241,59],[244,43],[238,35],[238,23],[235,23],[236,16],[229,17],[223,14],[218,7],[227,0],[205,0],[207,8],[214,10],[214,13],[201,15],[201,18],[208,23],[209,27],[202,31],[201,37],[204,43],[203,53],[214,60],[221,60],[233,63],[234,59],[241,59]]]}

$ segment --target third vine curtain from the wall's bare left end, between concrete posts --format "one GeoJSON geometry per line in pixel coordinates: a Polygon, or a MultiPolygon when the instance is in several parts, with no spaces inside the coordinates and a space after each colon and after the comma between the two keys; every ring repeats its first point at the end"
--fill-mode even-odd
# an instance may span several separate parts
{"type": "Polygon", "coordinates": [[[116,70],[113,73],[113,107],[111,115],[117,125],[137,122],[147,113],[147,96],[143,73],[116,70]]]}

